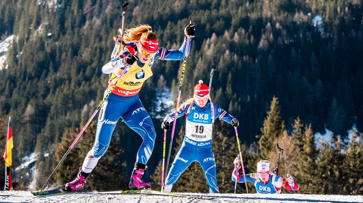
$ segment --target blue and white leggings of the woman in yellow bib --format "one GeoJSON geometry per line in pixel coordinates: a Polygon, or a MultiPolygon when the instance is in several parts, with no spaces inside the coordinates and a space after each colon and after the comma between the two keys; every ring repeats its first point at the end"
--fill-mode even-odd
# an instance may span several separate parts
{"type": "MultiPolygon", "coordinates": [[[[108,91],[109,89],[105,90],[104,96],[108,91]]],[[[99,158],[105,154],[119,118],[122,118],[127,126],[142,137],[143,142],[137,153],[136,161],[142,164],[147,163],[154,149],[156,136],[150,115],[142,105],[138,94],[124,97],[111,93],[99,110],[96,139],[93,148],[87,153],[83,162],[82,171],[90,173],[99,158]]]]}

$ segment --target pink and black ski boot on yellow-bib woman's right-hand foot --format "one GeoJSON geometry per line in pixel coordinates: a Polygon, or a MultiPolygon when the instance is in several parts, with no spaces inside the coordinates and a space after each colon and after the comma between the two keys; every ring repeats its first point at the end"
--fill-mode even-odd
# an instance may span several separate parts
{"type": "Polygon", "coordinates": [[[129,183],[131,190],[151,190],[151,185],[142,180],[142,175],[146,168],[146,164],[135,162],[135,168],[134,171],[132,171],[129,183]]]}

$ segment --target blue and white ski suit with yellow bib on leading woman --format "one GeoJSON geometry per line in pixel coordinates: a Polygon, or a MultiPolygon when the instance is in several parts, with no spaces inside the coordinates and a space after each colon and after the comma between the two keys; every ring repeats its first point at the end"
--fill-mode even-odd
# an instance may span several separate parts
{"type": "MultiPolygon", "coordinates": [[[[104,96],[107,95],[122,70],[125,69],[123,58],[129,53],[138,53],[136,44],[126,45],[125,49],[117,57],[102,67],[102,73],[112,73],[109,87],[105,90],[104,96]]],[[[95,143],[82,164],[83,172],[90,173],[97,165],[98,160],[105,154],[110,144],[111,135],[120,118],[142,137],[143,142],[138,150],[136,162],[147,163],[154,149],[156,133],[150,115],[139,99],[139,91],[144,81],[152,76],[151,67],[155,60],[184,59],[186,46],[187,40],[184,38],[184,43],[179,50],[167,50],[159,47],[156,55],[152,56],[146,63],[137,61],[121,77],[117,86],[115,86],[99,110],[95,143]]],[[[189,43],[188,53],[190,47],[191,44],[189,43]]]]}

